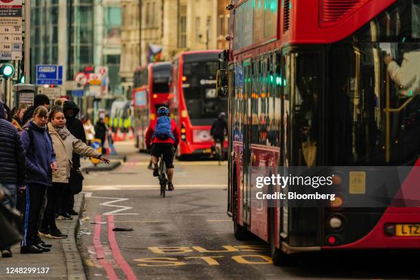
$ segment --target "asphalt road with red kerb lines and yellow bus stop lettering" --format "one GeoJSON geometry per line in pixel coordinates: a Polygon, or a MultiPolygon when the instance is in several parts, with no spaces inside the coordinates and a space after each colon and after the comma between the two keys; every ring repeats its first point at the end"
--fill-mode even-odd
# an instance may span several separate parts
{"type": "Polygon", "coordinates": [[[227,165],[176,162],[176,190],[161,198],[148,156],[120,149],[127,163],[85,176],[79,244],[89,279],[420,279],[413,252],[311,253],[273,266],[264,242],[233,237],[227,165]]]}

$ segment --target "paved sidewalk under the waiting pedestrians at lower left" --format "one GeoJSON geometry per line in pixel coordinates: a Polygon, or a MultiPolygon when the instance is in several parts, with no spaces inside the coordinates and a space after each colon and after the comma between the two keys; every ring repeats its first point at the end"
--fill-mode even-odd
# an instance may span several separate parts
{"type": "MultiPolygon", "coordinates": [[[[82,216],[84,207],[84,194],[75,196],[74,209],[78,211],[79,218],[82,216]]],[[[12,247],[13,257],[0,257],[0,279],[86,279],[82,257],[76,246],[75,235],[78,231],[79,218],[73,216],[73,220],[57,220],[57,226],[69,235],[67,239],[43,240],[52,244],[51,252],[42,254],[21,254],[20,246],[12,247]],[[36,273],[15,273],[8,274],[8,268],[45,268],[49,269],[46,274],[36,273]]]]}

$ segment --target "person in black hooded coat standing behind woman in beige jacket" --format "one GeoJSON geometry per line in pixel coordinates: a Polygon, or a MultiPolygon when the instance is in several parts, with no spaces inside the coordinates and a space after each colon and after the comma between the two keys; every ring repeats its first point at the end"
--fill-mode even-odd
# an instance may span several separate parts
{"type": "MultiPolygon", "coordinates": [[[[76,117],[80,112],[80,108],[73,101],[67,100],[62,106],[62,110],[65,113],[66,126],[69,132],[77,139],[82,140],[83,143],[86,143],[86,135],[84,133],[82,121],[76,117]]],[[[73,170],[80,168],[80,156],[78,154],[73,153],[72,162],[73,170]]],[[[73,172],[71,172],[71,174],[73,174],[73,172]]],[[[73,180],[71,177],[72,176],[70,176],[69,179],[70,182],[73,180]]],[[[66,219],[71,219],[71,215],[78,215],[78,212],[76,212],[73,207],[74,195],[71,193],[71,186],[69,185],[62,193],[58,214],[66,219]]]]}

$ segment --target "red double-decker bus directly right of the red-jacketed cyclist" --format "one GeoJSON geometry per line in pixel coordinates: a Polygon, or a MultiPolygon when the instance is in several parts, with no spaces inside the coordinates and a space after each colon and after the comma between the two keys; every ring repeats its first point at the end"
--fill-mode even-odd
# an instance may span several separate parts
{"type": "Polygon", "coordinates": [[[183,51],[172,63],[170,111],[180,129],[180,159],[192,154],[211,155],[211,124],[219,113],[227,111],[227,98],[218,97],[215,91],[219,53],[183,51]]]}

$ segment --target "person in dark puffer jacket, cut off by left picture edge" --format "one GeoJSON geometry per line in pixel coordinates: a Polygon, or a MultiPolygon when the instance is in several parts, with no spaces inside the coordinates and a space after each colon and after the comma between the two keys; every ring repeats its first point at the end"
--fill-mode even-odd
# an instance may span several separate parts
{"type": "MultiPolygon", "coordinates": [[[[25,185],[25,151],[18,131],[5,119],[5,109],[0,101],[0,189],[8,189],[12,199],[3,203],[10,208],[16,207],[16,189],[25,185]]],[[[10,248],[0,248],[1,257],[12,257],[10,248]]]]}

